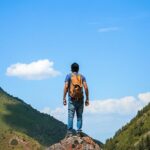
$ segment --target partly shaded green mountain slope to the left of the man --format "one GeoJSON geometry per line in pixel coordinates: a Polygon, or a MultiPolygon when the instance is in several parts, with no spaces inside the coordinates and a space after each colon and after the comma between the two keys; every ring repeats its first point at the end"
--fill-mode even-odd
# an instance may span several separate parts
{"type": "Polygon", "coordinates": [[[0,88],[0,150],[43,149],[65,134],[65,124],[0,88]]]}

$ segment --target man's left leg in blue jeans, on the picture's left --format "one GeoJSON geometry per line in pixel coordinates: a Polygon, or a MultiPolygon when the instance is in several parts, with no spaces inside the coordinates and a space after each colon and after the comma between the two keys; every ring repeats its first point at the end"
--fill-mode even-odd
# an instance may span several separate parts
{"type": "Polygon", "coordinates": [[[68,132],[72,133],[73,130],[73,118],[75,113],[74,103],[69,100],[68,101],[68,132]]]}

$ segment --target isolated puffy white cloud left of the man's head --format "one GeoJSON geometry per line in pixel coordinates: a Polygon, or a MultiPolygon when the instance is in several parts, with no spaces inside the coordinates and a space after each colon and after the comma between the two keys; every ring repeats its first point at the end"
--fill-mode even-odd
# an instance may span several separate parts
{"type": "Polygon", "coordinates": [[[60,72],[56,71],[53,65],[54,62],[48,59],[34,61],[29,64],[16,63],[7,68],[6,75],[27,80],[42,80],[60,75],[60,72]]]}

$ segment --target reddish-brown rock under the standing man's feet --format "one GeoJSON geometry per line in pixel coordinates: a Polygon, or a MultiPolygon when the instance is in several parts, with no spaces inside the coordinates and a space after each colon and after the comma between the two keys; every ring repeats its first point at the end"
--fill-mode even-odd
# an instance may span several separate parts
{"type": "Polygon", "coordinates": [[[72,136],[61,140],[46,150],[102,150],[89,136],[72,136]]]}

